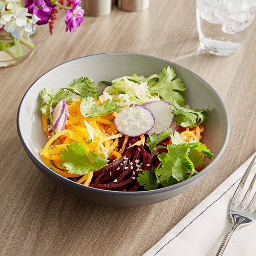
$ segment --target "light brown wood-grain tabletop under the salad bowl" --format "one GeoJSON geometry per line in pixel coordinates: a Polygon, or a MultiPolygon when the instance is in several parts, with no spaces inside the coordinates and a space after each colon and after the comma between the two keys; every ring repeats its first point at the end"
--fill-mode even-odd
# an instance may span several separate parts
{"type": "MultiPolygon", "coordinates": [[[[61,14],[61,13],[59,13],[61,14]]],[[[77,32],[54,34],[40,26],[34,54],[0,69],[0,255],[142,255],[256,151],[256,22],[239,52],[216,57],[199,49],[195,1],[151,0],[143,12],[117,8],[84,17],[77,32]],[[59,189],[36,169],[16,130],[20,100],[49,69],[84,55],[137,52],[165,58],[204,78],[230,116],[223,157],[200,183],[167,201],[114,208],[82,201],[59,189]]]]}

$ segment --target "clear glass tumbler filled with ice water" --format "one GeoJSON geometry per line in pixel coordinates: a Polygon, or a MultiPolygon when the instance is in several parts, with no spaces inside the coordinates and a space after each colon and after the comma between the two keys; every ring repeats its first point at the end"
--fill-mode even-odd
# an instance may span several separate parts
{"type": "Polygon", "coordinates": [[[201,48],[218,56],[237,52],[256,14],[256,0],[196,0],[201,48]]]}

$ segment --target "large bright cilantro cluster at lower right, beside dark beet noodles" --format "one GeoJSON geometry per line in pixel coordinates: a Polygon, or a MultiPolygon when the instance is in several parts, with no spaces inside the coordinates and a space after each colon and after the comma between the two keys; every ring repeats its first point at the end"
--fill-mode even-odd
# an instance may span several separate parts
{"type": "Polygon", "coordinates": [[[189,143],[180,138],[175,131],[170,135],[172,144],[167,145],[167,152],[157,155],[160,164],[151,171],[143,170],[137,177],[137,181],[146,190],[156,189],[158,186],[170,186],[186,180],[198,173],[195,168],[204,163],[203,155],[211,159],[213,154],[198,140],[189,143]]]}

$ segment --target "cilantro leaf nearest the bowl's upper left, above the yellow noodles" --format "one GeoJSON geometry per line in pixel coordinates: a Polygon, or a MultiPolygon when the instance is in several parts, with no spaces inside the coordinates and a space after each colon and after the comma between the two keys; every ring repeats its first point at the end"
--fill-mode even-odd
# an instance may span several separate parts
{"type": "Polygon", "coordinates": [[[71,93],[78,96],[80,99],[92,96],[93,98],[99,98],[99,91],[96,84],[87,77],[80,77],[79,79],[74,80],[68,84],[68,87],[65,88],[71,93]]]}

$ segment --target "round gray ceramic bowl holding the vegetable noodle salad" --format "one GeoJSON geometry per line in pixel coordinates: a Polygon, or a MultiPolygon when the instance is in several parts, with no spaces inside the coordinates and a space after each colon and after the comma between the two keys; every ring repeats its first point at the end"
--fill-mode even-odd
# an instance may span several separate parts
{"type": "MultiPolygon", "coordinates": [[[[103,90],[102,86],[99,87],[99,90],[103,90]]],[[[224,103],[206,81],[171,61],[134,53],[90,55],[68,61],[49,70],[29,87],[17,112],[17,131],[23,148],[35,166],[49,180],[86,201],[115,207],[137,207],[155,204],[175,197],[194,186],[220,159],[227,145],[229,130],[229,118],[224,103]],[[44,87],[52,87],[55,91],[60,87],[67,86],[69,82],[81,76],[87,76],[96,83],[102,80],[111,81],[117,77],[134,73],[150,76],[154,73],[159,74],[164,67],[168,66],[173,67],[177,77],[183,79],[186,86],[186,92],[183,93],[186,99],[185,104],[197,109],[210,106],[208,119],[204,122],[205,131],[202,142],[207,144],[215,157],[206,161],[201,172],[188,180],[166,188],[151,191],[119,192],[78,184],[58,175],[44,165],[38,154],[39,149],[43,148],[46,143],[41,125],[39,101],[39,93],[44,87]]]]}

